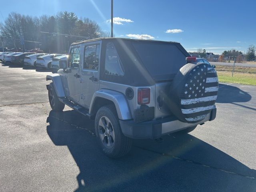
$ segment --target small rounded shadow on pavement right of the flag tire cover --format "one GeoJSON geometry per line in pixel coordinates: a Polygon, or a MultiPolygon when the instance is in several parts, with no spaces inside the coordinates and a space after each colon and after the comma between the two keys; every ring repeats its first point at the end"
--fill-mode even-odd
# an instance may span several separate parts
{"type": "Polygon", "coordinates": [[[217,103],[248,102],[252,96],[238,87],[219,84],[217,103]]]}

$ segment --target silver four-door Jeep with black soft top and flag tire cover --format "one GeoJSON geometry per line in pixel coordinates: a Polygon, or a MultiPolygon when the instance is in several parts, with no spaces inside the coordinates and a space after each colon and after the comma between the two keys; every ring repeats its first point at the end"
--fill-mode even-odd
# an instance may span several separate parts
{"type": "Polygon", "coordinates": [[[73,43],[46,76],[50,106],[65,104],[95,120],[102,151],[127,154],[132,139],[160,138],[214,120],[216,70],[177,42],[98,38],[73,43]]]}

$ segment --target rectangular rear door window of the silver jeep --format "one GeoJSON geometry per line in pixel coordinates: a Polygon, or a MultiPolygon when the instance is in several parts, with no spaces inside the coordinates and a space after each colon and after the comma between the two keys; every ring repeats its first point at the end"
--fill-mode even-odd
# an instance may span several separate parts
{"type": "Polygon", "coordinates": [[[100,45],[88,45],[84,50],[83,69],[98,70],[100,45]]]}

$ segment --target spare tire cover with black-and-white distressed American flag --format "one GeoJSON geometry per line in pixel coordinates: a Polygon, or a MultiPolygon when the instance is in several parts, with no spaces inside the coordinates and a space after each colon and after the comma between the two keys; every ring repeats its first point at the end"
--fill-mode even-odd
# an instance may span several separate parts
{"type": "Polygon", "coordinates": [[[188,63],[174,77],[168,105],[182,122],[196,123],[216,108],[217,93],[216,70],[210,64],[188,63]]]}

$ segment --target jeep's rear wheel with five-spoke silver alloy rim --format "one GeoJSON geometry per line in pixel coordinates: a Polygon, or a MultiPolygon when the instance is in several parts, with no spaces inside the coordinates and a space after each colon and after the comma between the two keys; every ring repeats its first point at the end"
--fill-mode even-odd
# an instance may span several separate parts
{"type": "Polygon", "coordinates": [[[130,152],[132,139],[122,133],[114,106],[103,106],[98,110],[95,133],[98,144],[108,157],[118,158],[130,152]]]}

